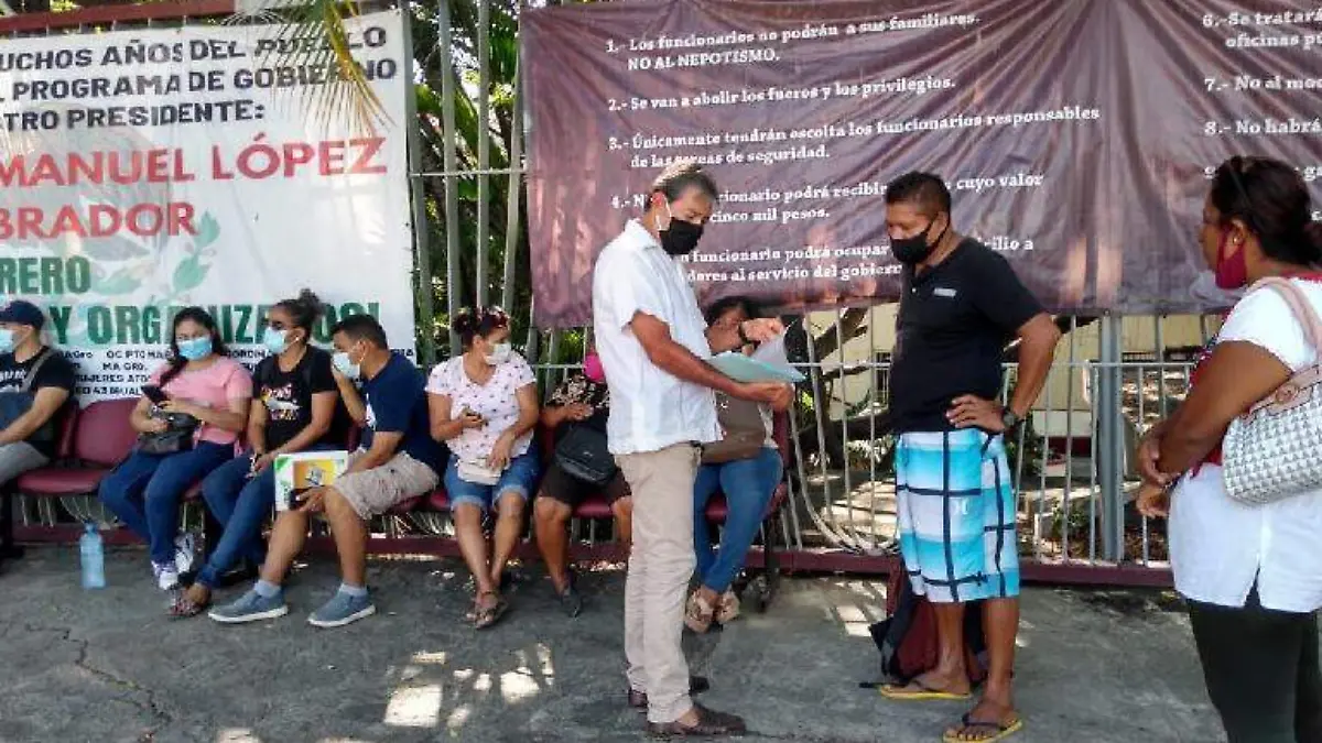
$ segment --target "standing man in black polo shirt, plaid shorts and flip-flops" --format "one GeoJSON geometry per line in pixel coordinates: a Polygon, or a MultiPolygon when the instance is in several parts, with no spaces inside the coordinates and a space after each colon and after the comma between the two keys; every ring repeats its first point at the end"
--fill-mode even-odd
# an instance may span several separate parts
{"type": "Polygon", "coordinates": [[[982,600],[986,691],[947,739],[994,739],[1022,726],[1010,691],[1019,567],[1005,434],[1042,391],[1060,332],[1001,255],[954,231],[940,177],[891,182],[886,227],[904,264],[890,389],[900,550],[914,591],[936,612],[940,660],[883,694],[969,697],[964,604],[982,600]],[[1015,336],[1018,383],[1002,407],[1001,354],[1015,336]]]}

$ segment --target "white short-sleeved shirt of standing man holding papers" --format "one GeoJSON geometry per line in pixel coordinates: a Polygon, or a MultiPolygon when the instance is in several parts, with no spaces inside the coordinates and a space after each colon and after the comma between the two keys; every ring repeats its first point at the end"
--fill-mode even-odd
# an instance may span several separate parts
{"type": "Polygon", "coordinates": [[[629,323],[639,312],[670,327],[670,337],[710,358],[706,321],[680,263],[637,219],[602,250],[592,275],[596,352],[611,390],[611,453],[654,452],[720,439],[711,390],[652,364],[629,323]]]}

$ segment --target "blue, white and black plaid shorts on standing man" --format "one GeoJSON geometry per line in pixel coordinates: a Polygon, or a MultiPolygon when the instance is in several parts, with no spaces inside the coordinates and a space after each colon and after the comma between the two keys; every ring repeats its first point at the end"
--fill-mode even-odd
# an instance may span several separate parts
{"type": "Polygon", "coordinates": [[[935,603],[1019,595],[1005,439],[977,430],[902,434],[895,497],[915,594],[935,603]]]}

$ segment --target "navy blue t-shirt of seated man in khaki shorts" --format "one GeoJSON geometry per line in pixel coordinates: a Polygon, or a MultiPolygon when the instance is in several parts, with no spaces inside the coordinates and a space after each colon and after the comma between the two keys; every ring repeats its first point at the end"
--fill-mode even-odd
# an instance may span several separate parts
{"type": "Polygon", "coordinates": [[[398,453],[407,453],[440,472],[440,444],[431,438],[431,418],[427,414],[427,381],[416,366],[398,353],[375,377],[362,383],[362,397],[368,407],[368,430],[362,434],[362,448],[371,448],[375,432],[403,434],[398,453]]]}

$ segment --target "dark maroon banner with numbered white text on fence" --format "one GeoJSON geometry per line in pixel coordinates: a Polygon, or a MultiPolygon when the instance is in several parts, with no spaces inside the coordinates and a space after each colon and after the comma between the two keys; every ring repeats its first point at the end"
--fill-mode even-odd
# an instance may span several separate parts
{"type": "Polygon", "coordinates": [[[592,262],[674,160],[723,200],[687,268],[711,301],[894,301],[883,193],[947,178],[954,226],[1050,308],[1199,309],[1212,168],[1322,176],[1322,5],[1277,0],[594,3],[522,42],[535,320],[584,324],[592,262]]]}

